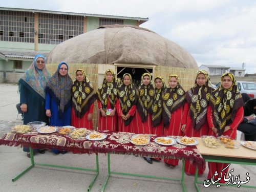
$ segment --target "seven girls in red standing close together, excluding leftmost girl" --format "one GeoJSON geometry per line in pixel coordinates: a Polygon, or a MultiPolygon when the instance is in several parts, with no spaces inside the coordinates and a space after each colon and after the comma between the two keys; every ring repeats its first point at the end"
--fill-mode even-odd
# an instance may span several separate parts
{"type": "MultiPolygon", "coordinates": [[[[194,86],[187,92],[177,74],[169,75],[167,88],[161,76],[155,77],[154,88],[149,73],[142,75],[138,89],[132,82],[132,76],[126,73],[118,87],[114,72],[106,71],[104,82],[97,91],[101,112],[99,130],[188,137],[227,135],[231,139],[236,138],[237,127],[243,120],[244,103],[232,73],[222,75],[222,83],[217,90],[212,90],[208,73],[204,70],[198,71],[194,86]],[[105,113],[109,109],[111,113],[107,116],[105,113]]],[[[150,158],[144,159],[152,163],[150,158]]],[[[172,167],[178,165],[177,159],[164,159],[164,162],[172,167]]],[[[208,163],[208,179],[214,177],[216,171],[220,175],[226,166],[225,163],[208,163]]],[[[227,171],[225,169],[223,174],[227,171]]],[[[196,166],[185,161],[185,173],[194,175],[195,172],[196,166]]],[[[199,169],[198,174],[203,172],[204,169],[199,169]]]]}

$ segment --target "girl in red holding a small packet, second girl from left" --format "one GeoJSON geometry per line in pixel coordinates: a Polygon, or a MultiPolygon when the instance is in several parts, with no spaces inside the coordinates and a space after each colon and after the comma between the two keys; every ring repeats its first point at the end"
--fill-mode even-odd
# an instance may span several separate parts
{"type": "Polygon", "coordinates": [[[97,90],[96,99],[100,110],[98,130],[117,131],[117,84],[112,69],[106,70],[103,83],[97,90]]]}

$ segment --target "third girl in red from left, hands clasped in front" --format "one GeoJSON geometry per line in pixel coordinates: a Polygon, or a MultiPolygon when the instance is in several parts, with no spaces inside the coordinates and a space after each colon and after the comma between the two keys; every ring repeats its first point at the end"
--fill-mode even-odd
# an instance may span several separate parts
{"type": "Polygon", "coordinates": [[[116,110],[118,115],[119,132],[133,133],[134,114],[136,112],[136,104],[138,95],[136,94],[135,85],[132,83],[132,76],[129,73],[123,75],[121,86],[117,91],[116,110]]]}

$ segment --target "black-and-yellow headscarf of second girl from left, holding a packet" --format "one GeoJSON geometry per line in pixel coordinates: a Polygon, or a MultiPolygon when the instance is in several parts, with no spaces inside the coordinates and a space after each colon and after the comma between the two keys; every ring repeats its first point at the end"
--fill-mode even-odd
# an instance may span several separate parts
{"type": "MultiPolygon", "coordinates": [[[[111,108],[115,108],[116,100],[117,100],[117,84],[114,76],[114,71],[112,69],[108,69],[105,72],[103,83],[100,84],[99,89],[96,93],[96,98],[102,104],[102,110],[106,112],[108,106],[108,99],[110,99],[111,108]],[[113,75],[113,79],[111,82],[106,80],[106,73],[111,72],[113,75]]],[[[101,113],[100,113],[101,115],[101,113]]]]}

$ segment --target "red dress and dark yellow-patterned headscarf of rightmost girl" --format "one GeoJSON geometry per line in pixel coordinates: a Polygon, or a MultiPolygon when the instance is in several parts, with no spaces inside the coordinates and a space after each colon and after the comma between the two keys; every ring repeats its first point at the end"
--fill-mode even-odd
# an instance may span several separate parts
{"type": "MultiPolygon", "coordinates": [[[[210,97],[210,105],[208,109],[207,119],[209,123],[209,135],[217,136],[214,133],[214,129],[217,129],[218,136],[227,135],[230,139],[236,139],[237,127],[243,121],[244,109],[242,95],[238,91],[237,82],[232,73],[224,73],[224,76],[228,75],[232,80],[231,88],[224,89],[222,85],[215,91],[212,92],[210,97]],[[220,101],[220,102],[219,102],[220,101]],[[230,129],[225,131],[225,126],[229,126],[230,129]]],[[[221,80],[222,80],[221,79],[221,80]]],[[[227,166],[227,163],[214,163],[208,162],[209,173],[208,179],[214,177],[217,180],[222,170],[227,166]],[[217,176],[214,176],[215,173],[217,176]]],[[[222,178],[220,183],[225,183],[224,175],[227,175],[228,168],[223,170],[222,178]]]]}

